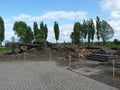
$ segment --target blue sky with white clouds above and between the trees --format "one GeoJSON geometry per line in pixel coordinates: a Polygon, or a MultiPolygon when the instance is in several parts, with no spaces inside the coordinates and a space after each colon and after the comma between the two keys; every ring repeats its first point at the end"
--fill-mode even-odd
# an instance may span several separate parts
{"type": "MultiPolygon", "coordinates": [[[[48,25],[48,41],[55,42],[53,23],[58,21],[60,40],[70,41],[73,24],[84,19],[99,16],[114,28],[119,38],[120,0],[0,0],[0,16],[5,22],[5,40],[15,36],[12,27],[15,21],[25,21],[32,27],[33,22],[44,21],[48,25]]],[[[112,40],[113,40],[112,39],[112,40]]]]}

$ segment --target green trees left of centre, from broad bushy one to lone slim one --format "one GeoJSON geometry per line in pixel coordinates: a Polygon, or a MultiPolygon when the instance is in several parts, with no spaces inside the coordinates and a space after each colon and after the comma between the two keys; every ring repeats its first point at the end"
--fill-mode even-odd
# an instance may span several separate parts
{"type": "MultiPolygon", "coordinates": [[[[48,27],[47,24],[44,22],[40,22],[38,27],[38,23],[33,23],[33,31],[30,26],[23,21],[15,22],[13,26],[14,32],[19,37],[19,41],[22,43],[32,43],[32,41],[46,41],[48,37],[48,27]]],[[[55,32],[55,39],[56,42],[59,39],[59,25],[55,21],[54,22],[54,32],[55,32]]]]}

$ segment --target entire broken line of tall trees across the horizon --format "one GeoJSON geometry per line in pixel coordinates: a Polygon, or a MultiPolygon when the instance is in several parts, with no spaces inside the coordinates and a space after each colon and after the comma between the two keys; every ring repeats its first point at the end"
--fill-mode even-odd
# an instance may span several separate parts
{"type": "MultiPolygon", "coordinates": [[[[54,22],[53,29],[57,42],[60,34],[59,24],[57,21],[54,22]]],[[[13,31],[18,36],[19,42],[21,43],[46,41],[48,37],[48,27],[43,21],[39,24],[34,22],[33,29],[31,29],[31,27],[24,21],[16,21],[13,25],[13,31]]],[[[4,32],[4,20],[0,17],[0,44],[2,44],[4,40],[4,32]]],[[[113,35],[114,30],[110,24],[105,20],[100,20],[100,18],[96,16],[95,21],[93,21],[93,19],[87,19],[82,23],[75,22],[70,38],[71,42],[75,44],[80,44],[83,41],[91,43],[95,39],[97,39],[98,42],[101,39],[105,43],[108,39],[112,38],[113,35]]]]}

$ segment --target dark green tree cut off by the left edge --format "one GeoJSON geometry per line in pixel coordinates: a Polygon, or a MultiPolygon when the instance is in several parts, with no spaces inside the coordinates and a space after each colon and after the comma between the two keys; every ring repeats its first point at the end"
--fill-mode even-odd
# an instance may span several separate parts
{"type": "Polygon", "coordinates": [[[2,42],[4,40],[4,32],[5,32],[4,21],[2,17],[0,17],[0,45],[2,45],[2,42]]]}

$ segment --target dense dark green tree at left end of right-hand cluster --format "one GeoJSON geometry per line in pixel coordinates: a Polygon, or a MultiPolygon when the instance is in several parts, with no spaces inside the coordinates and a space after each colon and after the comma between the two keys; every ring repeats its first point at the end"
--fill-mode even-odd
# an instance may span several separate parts
{"type": "Polygon", "coordinates": [[[72,43],[79,44],[82,40],[82,25],[79,22],[74,24],[73,32],[70,35],[72,43]]]}

